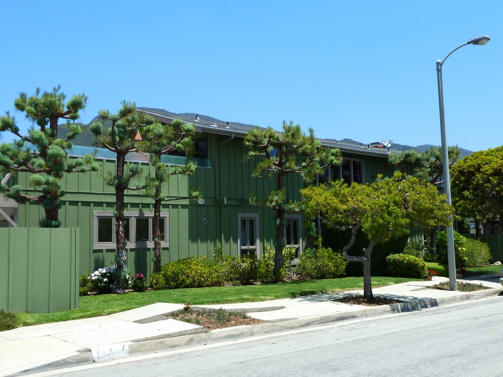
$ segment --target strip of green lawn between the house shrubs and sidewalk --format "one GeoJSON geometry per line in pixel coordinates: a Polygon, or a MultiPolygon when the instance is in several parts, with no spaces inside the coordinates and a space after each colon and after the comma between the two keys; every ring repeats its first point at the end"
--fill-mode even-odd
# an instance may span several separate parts
{"type": "MultiPolygon", "coordinates": [[[[372,277],[372,287],[383,287],[418,280],[404,277],[372,277]]],[[[55,313],[17,314],[23,326],[73,319],[98,317],[155,303],[192,305],[230,304],[239,302],[268,301],[317,293],[363,289],[363,277],[339,279],[296,280],[276,284],[238,287],[189,288],[166,291],[132,292],[123,295],[99,295],[80,297],[79,308],[55,313]]]]}

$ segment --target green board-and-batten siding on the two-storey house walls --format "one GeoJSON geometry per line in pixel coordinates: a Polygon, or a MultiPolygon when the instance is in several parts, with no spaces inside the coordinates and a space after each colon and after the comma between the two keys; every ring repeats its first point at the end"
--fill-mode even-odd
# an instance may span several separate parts
{"type": "MultiPolygon", "coordinates": [[[[261,253],[265,245],[272,246],[275,238],[275,213],[270,209],[250,205],[250,197],[264,199],[277,189],[276,179],[272,177],[253,177],[258,159],[243,161],[246,148],[242,139],[207,134],[208,158],[201,163],[196,173],[191,176],[174,175],[163,186],[163,192],[171,198],[187,198],[190,190],[201,189],[204,205],[196,201],[180,199],[166,202],[162,212],[169,213],[170,234],[169,248],[162,249],[162,262],[188,256],[211,256],[215,246],[223,246],[228,255],[237,256],[237,214],[259,214],[259,234],[261,253]],[[207,224],[203,222],[207,219],[207,224]]],[[[357,154],[343,154],[345,157],[364,161],[364,173],[367,182],[373,181],[377,174],[390,175],[393,171],[387,158],[357,154]]],[[[97,158],[101,165],[100,172],[85,174],[65,174],[62,180],[66,195],[61,198],[62,208],[59,218],[62,227],[80,228],[80,274],[110,265],[115,259],[114,249],[93,249],[93,212],[113,211],[115,193],[112,186],[105,182],[109,174],[115,173],[116,161],[109,158],[97,158]]],[[[131,164],[126,162],[126,170],[131,164]]],[[[141,163],[141,181],[153,169],[147,163],[141,163]]],[[[19,174],[15,182],[27,191],[30,174],[19,174]]],[[[300,176],[289,174],[285,179],[285,189],[289,200],[300,199],[299,189],[305,183],[300,176]]],[[[141,195],[141,192],[126,192],[125,211],[153,212],[153,200],[141,195]]],[[[44,216],[41,206],[35,204],[19,205],[19,227],[38,227],[44,216]]],[[[305,242],[305,234],[302,234],[305,242]]],[[[149,276],[153,262],[153,249],[128,249],[128,267],[134,272],[149,276]]]]}

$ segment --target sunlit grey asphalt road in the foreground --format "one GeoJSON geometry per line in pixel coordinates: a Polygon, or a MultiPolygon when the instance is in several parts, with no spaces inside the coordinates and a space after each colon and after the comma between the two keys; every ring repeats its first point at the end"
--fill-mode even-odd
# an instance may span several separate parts
{"type": "Polygon", "coordinates": [[[499,377],[502,343],[503,296],[495,296],[44,375],[499,377]]]}

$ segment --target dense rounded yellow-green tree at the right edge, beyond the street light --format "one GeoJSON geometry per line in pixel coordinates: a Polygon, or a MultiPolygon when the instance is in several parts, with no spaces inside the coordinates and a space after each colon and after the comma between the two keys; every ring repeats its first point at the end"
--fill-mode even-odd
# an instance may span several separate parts
{"type": "Polygon", "coordinates": [[[456,212],[480,223],[503,215],[503,146],[473,152],[451,169],[452,199],[456,212]]]}

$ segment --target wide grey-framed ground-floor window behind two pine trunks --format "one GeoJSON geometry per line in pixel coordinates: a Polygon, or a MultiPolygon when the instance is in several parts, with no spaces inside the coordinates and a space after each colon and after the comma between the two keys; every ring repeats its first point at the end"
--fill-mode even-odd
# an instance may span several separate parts
{"type": "MultiPolygon", "coordinates": [[[[128,240],[126,248],[154,247],[153,212],[124,212],[124,236],[128,240]]],[[[169,216],[162,212],[159,219],[160,245],[169,247],[169,216]]],[[[115,247],[115,218],[112,211],[93,212],[93,248],[115,247]]]]}

